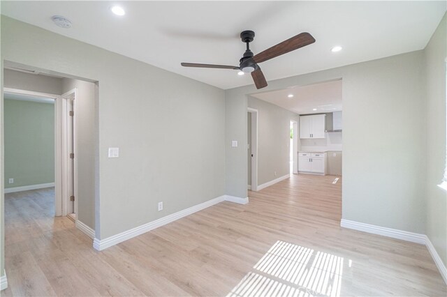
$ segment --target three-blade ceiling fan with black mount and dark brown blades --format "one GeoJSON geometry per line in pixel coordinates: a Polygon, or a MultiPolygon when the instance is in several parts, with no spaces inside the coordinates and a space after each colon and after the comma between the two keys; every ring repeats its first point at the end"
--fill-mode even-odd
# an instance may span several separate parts
{"type": "Polygon", "coordinates": [[[242,31],[240,33],[242,43],[247,43],[247,50],[244,52],[244,56],[239,60],[239,67],[227,66],[227,65],[214,65],[214,64],[200,64],[200,63],[182,63],[184,67],[199,67],[199,68],[219,68],[219,69],[233,69],[242,70],[244,73],[251,73],[253,77],[256,89],[262,89],[267,86],[264,74],[258,63],[270,60],[281,54],[286,54],[293,50],[298,50],[300,47],[305,47],[315,42],[315,38],[307,32],[293,36],[288,40],[284,40],[282,43],[278,43],[270,47],[269,49],[254,55],[250,50],[249,43],[254,39],[254,31],[242,31]]]}

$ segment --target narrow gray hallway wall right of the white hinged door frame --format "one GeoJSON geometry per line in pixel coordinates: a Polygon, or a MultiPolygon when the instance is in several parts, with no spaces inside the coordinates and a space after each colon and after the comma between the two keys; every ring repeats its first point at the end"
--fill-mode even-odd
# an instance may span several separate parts
{"type": "Polygon", "coordinates": [[[62,80],[64,93],[76,88],[76,155],[78,220],[95,229],[95,176],[98,146],[97,86],[79,79],[62,80]]]}

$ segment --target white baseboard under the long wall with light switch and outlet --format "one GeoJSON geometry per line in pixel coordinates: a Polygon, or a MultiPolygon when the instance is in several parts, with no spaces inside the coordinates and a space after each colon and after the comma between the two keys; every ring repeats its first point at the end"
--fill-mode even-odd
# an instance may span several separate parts
{"type": "Polygon", "coordinates": [[[178,211],[177,213],[173,213],[171,215],[166,215],[166,217],[159,218],[158,220],[154,220],[152,222],[148,222],[147,224],[142,224],[138,227],[129,229],[129,230],[119,233],[117,235],[110,236],[108,238],[104,238],[101,240],[98,238],[94,238],[93,248],[95,250],[105,250],[106,248],[110,248],[112,245],[122,243],[123,241],[127,241],[128,239],[131,239],[135,236],[144,234],[147,231],[154,230],[154,229],[161,227],[165,224],[168,224],[170,222],[174,222],[175,220],[184,218],[184,217],[186,217],[186,215],[191,215],[192,213],[196,213],[197,211],[201,211],[205,208],[213,206],[214,204],[218,204],[219,202],[222,202],[222,201],[232,201],[235,203],[247,204],[249,199],[248,199],[248,197],[240,198],[240,197],[223,195],[221,197],[211,199],[209,201],[203,202],[196,206],[191,206],[190,208],[186,208],[183,211],[178,211]]]}

